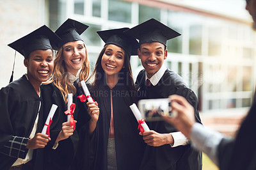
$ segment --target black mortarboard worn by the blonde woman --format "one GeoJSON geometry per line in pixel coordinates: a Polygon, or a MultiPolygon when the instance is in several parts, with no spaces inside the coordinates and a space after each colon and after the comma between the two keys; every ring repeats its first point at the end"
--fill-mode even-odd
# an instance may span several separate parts
{"type": "Polygon", "coordinates": [[[85,24],[76,20],[67,19],[56,31],[56,35],[60,36],[61,42],[54,45],[54,50],[59,50],[62,45],[67,42],[82,40],[81,34],[88,28],[85,24]]]}

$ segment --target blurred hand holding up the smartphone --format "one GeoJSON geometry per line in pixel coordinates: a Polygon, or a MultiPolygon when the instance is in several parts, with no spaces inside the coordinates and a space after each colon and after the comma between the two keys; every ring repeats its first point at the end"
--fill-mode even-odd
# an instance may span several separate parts
{"type": "Polygon", "coordinates": [[[195,123],[194,107],[189,104],[186,98],[179,95],[172,95],[169,98],[172,102],[172,112],[177,113],[177,115],[174,117],[163,116],[163,118],[189,138],[195,123]]]}

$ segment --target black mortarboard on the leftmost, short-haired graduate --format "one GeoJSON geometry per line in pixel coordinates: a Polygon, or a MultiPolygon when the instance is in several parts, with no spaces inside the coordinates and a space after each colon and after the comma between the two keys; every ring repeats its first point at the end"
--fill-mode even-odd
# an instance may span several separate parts
{"type": "Polygon", "coordinates": [[[52,44],[57,42],[60,42],[60,37],[49,29],[49,27],[42,26],[19,40],[8,44],[8,46],[17,50],[22,56],[28,59],[29,54],[34,50],[52,49],[52,44]]]}

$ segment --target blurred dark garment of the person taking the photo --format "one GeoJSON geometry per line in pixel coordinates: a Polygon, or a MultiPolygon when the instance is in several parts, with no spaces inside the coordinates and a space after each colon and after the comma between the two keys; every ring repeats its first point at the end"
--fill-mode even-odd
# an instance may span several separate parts
{"type": "Polygon", "coordinates": [[[244,118],[236,138],[224,138],[218,146],[218,158],[222,170],[256,169],[256,100],[244,118]]]}

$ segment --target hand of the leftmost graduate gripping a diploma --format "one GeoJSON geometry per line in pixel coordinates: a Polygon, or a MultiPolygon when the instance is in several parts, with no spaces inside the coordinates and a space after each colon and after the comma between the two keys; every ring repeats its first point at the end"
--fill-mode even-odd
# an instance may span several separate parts
{"type": "Polygon", "coordinates": [[[51,138],[48,135],[37,133],[32,139],[28,139],[26,148],[33,150],[44,148],[49,141],[51,141],[51,138]]]}

